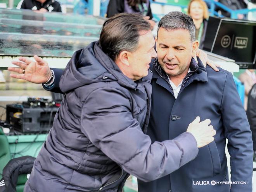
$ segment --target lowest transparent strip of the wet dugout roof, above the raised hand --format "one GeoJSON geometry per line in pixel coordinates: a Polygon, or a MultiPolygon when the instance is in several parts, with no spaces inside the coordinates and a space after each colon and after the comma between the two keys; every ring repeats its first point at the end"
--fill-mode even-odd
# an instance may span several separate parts
{"type": "Polygon", "coordinates": [[[0,55],[71,57],[76,50],[98,39],[95,37],[0,33],[0,55]]]}

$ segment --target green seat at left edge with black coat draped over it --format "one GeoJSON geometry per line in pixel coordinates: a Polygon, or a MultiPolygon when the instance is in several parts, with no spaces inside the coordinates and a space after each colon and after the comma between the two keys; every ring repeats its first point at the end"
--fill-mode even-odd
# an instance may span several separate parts
{"type": "MultiPolygon", "coordinates": [[[[3,133],[2,128],[0,128],[0,178],[2,177],[3,168],[11,160],[9,142],[6,135],[3,133]]],[[[27,174],[19,175],[16,190],[17,192],[23,192],[24,184],[27,181],[27,174]]]]}

